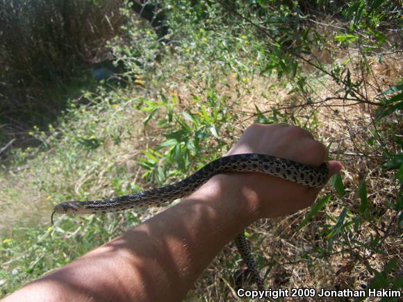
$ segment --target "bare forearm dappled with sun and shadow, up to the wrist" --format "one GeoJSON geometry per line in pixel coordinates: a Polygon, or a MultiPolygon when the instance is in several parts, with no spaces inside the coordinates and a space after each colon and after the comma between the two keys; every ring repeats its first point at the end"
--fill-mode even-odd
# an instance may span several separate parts
{"type": "Polygon", "coordinates": [[[222,247],[256,219],[253,199],[233,194],[229,177],[215,176],[183,202],[9,298],[178,301],[222,247]]]}

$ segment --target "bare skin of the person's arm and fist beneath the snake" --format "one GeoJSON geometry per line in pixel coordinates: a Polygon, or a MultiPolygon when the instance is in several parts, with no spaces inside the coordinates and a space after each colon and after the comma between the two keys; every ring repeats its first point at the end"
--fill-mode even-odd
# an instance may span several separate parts
{"type": "MultiPolygon", "coordinates": [[[[288,124],[254,124],[227,153],[263,153],[319,166],[327,149],[288,124]]],[[[329,161],[329,176],[341,169],[329,161]]],[[[261,218],[287,215],[320,189],[254,172],[219,174],[181,203],[3,301],[180,301],[215,255],[261,218]]]]}

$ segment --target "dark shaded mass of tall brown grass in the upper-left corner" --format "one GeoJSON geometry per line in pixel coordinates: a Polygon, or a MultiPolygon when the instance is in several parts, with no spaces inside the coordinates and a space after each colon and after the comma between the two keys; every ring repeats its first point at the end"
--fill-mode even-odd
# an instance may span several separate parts
{"type": "Polygon", "coordinates": [[[38,144],[30,128],[56,125],[68,99],[99,85],[91,70],[108,57],[105,43],[125,22],[120,4],[0,1],[0,26],[7,28],[0,32],[0,144],[38,144]]]}

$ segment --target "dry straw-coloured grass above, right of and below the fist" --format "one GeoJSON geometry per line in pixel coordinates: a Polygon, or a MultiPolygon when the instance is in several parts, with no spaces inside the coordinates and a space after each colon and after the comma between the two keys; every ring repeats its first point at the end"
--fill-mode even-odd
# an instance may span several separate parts
{"type": "MultiPolygon", "coordinates": [[[[379,92],[388,89],[397,78],[402,77],[403,65],[402,60],[395,55],[386,56],[383,62],[375,62],[375,58],[368,58],[368,62],[370,71],[365,76],[366,90],[363,93],[368,99],[374,99],[379,92]]],[[[347,66],[353,68],[356,78],[359,78],[359,67],[353,65],[350,62],[347,66]]],[[[204,89],[197,81],[182,83],[180,74],[177,74],[173,82],[174,84],[166,87],[166,90],[173,91],[176,98],[188,106],[192,106],[192,103],[187,100],[204,89]]],[[[373,121],[377,108],[355,101],[345,101],[341,97],[326,100],[338,96],[335,93],[338,87],[329,78],[315,84],[317,99],[313,106],[302,106],[305,103],[304,99],[296,93],[288,94],[290,87],[281,87],[275,76],[271,78],[255,76],[244,85],[228,75],[217,84],[217,87],[217,94],[232,104],[231,110],[242,114],[242,121],[236,126],[237,131],[233,133],[233,138],[229,142],[236,141],[242,130],[254,121],[255,106],[258,106],[261,112],[283,108],[279,111],[286,113],[285,119],[290,124],[293,124],[290,116],[297,117],[302,121],[302,126],[309,128],[319,140],[330,146],[330,158],[338,156],[338,160],[343,162],[341,174],[347,188],[347,196],[343,200],[335,198],[324,210],[315,215],[309,226],[302,231],[297,231],[297,228],[309,210],[302,210],[282,219],[259,221],[249,229],[249,233],[254,234],[252,244],[255,254],[263,261],[264,268],[261,274],[265,274],[266,269],[270,271],[265,279],[266,286],[288,289],[313,287],[317,290],[323,287],[340,290],[364,289],[373,275],[368,272],[365,261],[356,255],[354,249],[338,245],[327,257],[315,255],[313,249],[324,246],[326,242],[324,237],[318,234],[321,230],[318,226],[334,224],[325,213],[338,217],[343,205],[348,205],[352,209],[359,207],[356,192],[359,181],[363,178],[367,183],[368,202],[375,209],[382,212],[386,209],[384,203],[390,197],[397,197],[397,190],[391,183],[392,171],[381,169],[384,158],[379,146],[370,146],[367,143],[373,135],[373,121]],[[312,127],[310,122],[313,119],[316,119],[316,123],[312,127]]],[[[386,140],[385,143],[392,147],[389,141],[386,140]]],[[[331,192],[331,186],[327,185],[320,195],[331,192]]],[[[387,223],[396,218],[394,215],[390,210],[379,213],[376,221],[368,222],[361,228],[356,240],[366,242],[370,234],[374,236],[377,232],[386,234],[387,223]]],[[[383,245],[386,255],[365,255],[368,256],[365,260],[368,260],[372,268],[382,271],[388,260],[400,255],[401,247],[401,239],[388,237],[383,245]]],[[[236,288],[233,285],[238,283],[237,278],[240,278],[242,271],[236,270],[234,255],[236,255],[234,246],[227,246],[199,278],[195,289],[188,294],[188,300],[201,297],[206,301],[237,299],[236,288]]],[[[237,259],[240,263],[240,259],[237,259]]],[[[402,261],[399,263],[397,271],[403,269],[402,261]]]]}

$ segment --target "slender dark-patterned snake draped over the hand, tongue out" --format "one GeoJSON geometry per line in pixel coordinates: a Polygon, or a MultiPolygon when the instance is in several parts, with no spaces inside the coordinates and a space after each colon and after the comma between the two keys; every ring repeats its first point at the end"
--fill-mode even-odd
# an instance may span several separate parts
{"type": "MultiPolygon", "coordinates": [[[[319,167],[312,167],[301,162],[265,154],[235,154],[213,160],[194,174],[172,185],[111,199],[59,203],[54,207],[51,223],[53,224],[54,214],[56,213],[74,215],[117,212],[181,199],[195,192],[213,176],[227,172],[259,172],[277,176],[300,185],[318,188],[323,187],[329,179],[329,169],[324,162],[319,167]]],[[[264,282],[252,256],[249,242],[246,240],[245,231],[236,236],[235,245],[245,265],[247,265],[247,269],[252,274],[256,287],[258,290],[264,290],[264,282]]]]}

